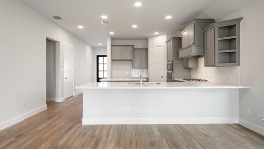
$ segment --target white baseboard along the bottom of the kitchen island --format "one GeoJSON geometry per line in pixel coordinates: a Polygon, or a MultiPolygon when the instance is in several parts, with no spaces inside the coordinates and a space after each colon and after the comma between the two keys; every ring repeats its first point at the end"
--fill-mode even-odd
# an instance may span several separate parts
{"type": "Polygon", "coordinates": [[[100,124],[233,124],[238,118],[92,118],[82,119],[82,125],[100,124]]]}

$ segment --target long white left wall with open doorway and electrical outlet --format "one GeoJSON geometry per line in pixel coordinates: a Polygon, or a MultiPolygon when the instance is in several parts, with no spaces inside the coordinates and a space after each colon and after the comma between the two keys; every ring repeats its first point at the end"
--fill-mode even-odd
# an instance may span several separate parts
{"type": "Polygon", "coordinates": [[[59,70],[64,44],[75,46],[75,86],[92,81],[91,46],[21,1],[0,0],[0,129],[46,108],[47,37],[60,43],[59,70]]]}

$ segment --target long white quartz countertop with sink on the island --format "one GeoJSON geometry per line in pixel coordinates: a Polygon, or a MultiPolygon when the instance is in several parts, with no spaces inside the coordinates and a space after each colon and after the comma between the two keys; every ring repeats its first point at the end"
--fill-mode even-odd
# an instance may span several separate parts
{"type": "Polygon", "coordinates": [[[128,82],[90,82],[75,88],[77,89],[202,89],[202,88],[250,88],[250,86],[225,84],[218,82],[159,82],[160,84],[128,83],[128,82]]]}

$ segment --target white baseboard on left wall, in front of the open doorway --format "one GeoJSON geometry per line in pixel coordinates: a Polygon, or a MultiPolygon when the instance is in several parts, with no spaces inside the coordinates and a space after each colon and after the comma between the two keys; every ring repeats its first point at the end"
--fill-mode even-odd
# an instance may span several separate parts
{"type": "Polygon", "coordinates": [[[23,121],[24,119],[29,118],[29,117],[31,117],[31,116],[33,116],[33,115],[35,115],[35,114],[37,114],[43,110],[46,110],[46,109],[47,109],[47,104],[43,105],[41,107],[38,107],[36,109],[33,109],[31,111],[28,111],[28,112],[21,114],[19,116],[16,116],[16,117],[9,119],[7,121],[4,121],[4,122],[0,123],[0,130],[5,129],[11,125],[14,125],[20,121],[23,121]]]}

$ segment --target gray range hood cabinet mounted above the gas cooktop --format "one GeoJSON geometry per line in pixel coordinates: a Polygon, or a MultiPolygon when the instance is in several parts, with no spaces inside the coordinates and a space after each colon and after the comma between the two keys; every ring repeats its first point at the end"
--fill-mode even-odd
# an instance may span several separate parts
{"type": "Polygon", "coordinates": [[[180,29],[182,33],[182,47],[179,49],[179,58],[204,56],[203,28],[214,22],[214,19],[195,18],[180,29]]]}

